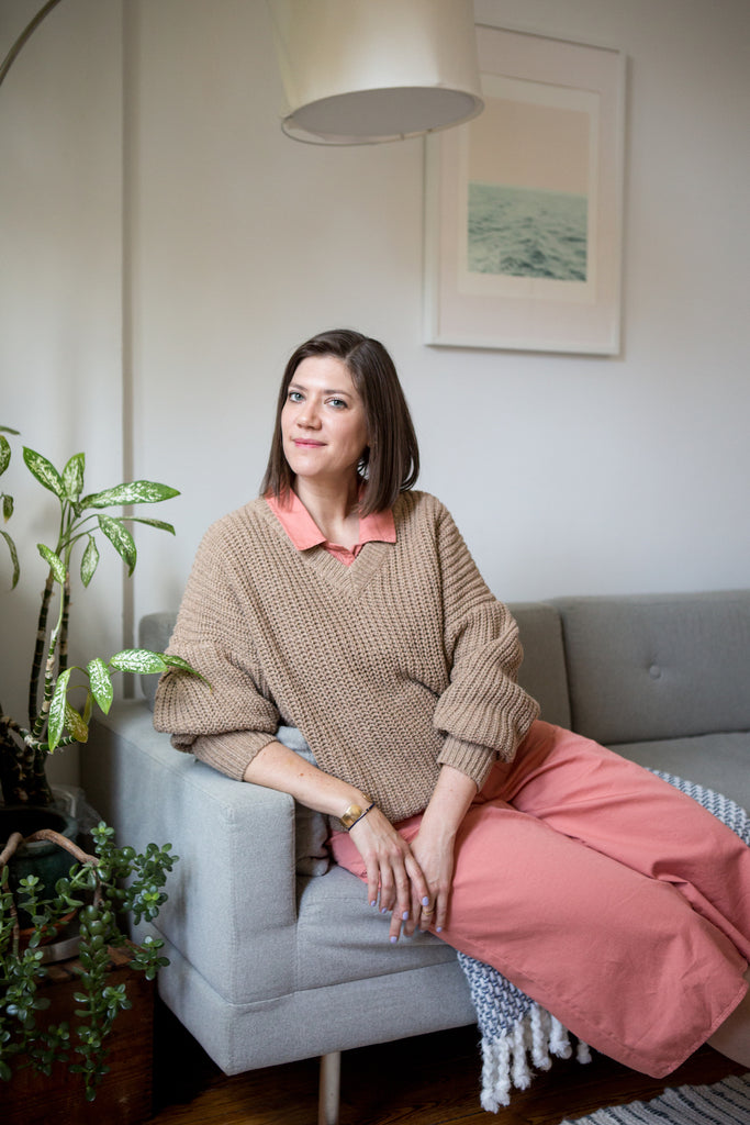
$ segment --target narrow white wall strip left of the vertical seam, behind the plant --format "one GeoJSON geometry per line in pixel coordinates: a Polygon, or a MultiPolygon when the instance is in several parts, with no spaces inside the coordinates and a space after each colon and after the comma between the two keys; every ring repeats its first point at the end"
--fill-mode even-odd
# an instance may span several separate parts
{"type": "MultiPolygon", "coordinates": [[[[3,0],[0,55],[40,4],[3,0]]],[[[19,721],[57,506],[27,472],[21,443],[62,469],[87,453],[87,488],[121,477],[121,35],[119,0],[64,0],[0,88],[0,424],[21,431],[0,490],[16,498],[7,531],[21,556],[9,592],[0,543],[0,700],[19,721]]],[[[100,573],[74,604],[73,659],[121,642],[121,566],[102,548],[100,573]],[[81,655],[82,654],[82,655],[81,655]]],[[[51,765],[69,778],[75,754],[51,765]]]]}

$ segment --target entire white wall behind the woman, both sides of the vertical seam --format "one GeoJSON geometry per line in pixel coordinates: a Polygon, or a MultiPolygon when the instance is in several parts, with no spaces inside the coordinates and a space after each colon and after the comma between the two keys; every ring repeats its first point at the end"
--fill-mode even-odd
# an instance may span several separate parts
{"type": "MultiPolygon", "coordinates": [[[[0,50],[36,7],[4,0],[0,50]]],[[[286,138],[263,0],[63,0],[0,90],[2,415],[53,459],[85,448],[92,487],[132,460],[182,489],[153,512],[178,539],[138,533],[136,616],[177,608],[205,528],[255,494],[283,363],[334,325],[391,349],[422,486],[499,596],[748,584],[750,7],[476,14],[629,56],[618,358],[422,343],[423,143],[286,138]]],[[[100,579],[89,628],[117,645],[116,560],[100,579]]]]}

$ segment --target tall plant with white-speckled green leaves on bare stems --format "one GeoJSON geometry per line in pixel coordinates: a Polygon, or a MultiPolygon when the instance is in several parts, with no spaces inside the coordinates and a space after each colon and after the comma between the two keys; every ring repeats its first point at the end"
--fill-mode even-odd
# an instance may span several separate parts
{"type": "MultiPolygon", "coordinates": [[[[6,434],[13,436],[18,431],[0,426],[0,476],[11,461],[11,444],[6,434]]],[[[178,496],[178,490],[153,480],[133,480],[85,493],[83,453],[71,457],[62,471],[27,447],[24,447],[22,457],[34,479],[56,497],[60,519],[49,542],[37,543],[46,567],[46,582],[33,648],[27,719],[19,721],[7,714],[0,702],[0,784],[7,806],[48,806],[53,803],[53,794],[45,770],[47,757],[72,742],[87,741],[94,704],[105,713],[111,705],[115,673],[159,674],[168,667],[181,668],[191,675],[199,673],[179,657],[141,648],[124,649],[108,660],[94,656],[85,666],[69,664],[74,556],[84,588],[96,574],[100,557],[98,539],[102,537],[132,575],[137,554],[127,524],[148,524],[171,534],[174,528],[162,520],[124,515],[123,508],[159,503],[178,496]]],[[[0,492],[0,504],[7,523],[13,513],[12,496],[0,492]]],[[[9,552],[12,588],[20,574],[18,550],[6,530],[0,529],[0,536],[9,552]]]]}

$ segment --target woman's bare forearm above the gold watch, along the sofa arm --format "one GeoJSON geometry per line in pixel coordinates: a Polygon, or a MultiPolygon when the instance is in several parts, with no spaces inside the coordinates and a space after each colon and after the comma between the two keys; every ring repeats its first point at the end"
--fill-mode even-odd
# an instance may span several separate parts
{"type": "Polygon", "coordinates": [[[243,781],[290,793],[308,809],[341,817],[350,804],[362,806],[367,794],[332,777],[279,741],[268,742],[245,767],[243,781]]]}

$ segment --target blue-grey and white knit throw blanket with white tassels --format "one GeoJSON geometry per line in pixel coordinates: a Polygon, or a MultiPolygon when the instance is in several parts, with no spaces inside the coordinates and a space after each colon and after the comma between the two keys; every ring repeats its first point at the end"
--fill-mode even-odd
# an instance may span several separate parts
{"type": "MultiPolygon", "coordinates": [[[[719,817],[750,846],[750,818],[744,809],[713,790],[704,789],[671,774],[652,771],[676,789],[687,793],[719,817]]],[[[491,965],[459,953],[459,962],[471,989],[481,1033],[481,1105],[489,1113],[510,1101],[510,1090],[531,1084],[532,1064],[549,1070],[551,1055],[569,1059],[570,1036],[549,1011],[525,996],[491,965]]],[[[579,1062],[589,1062],[585,1043],[577,1044],[579,1062]]]]}

